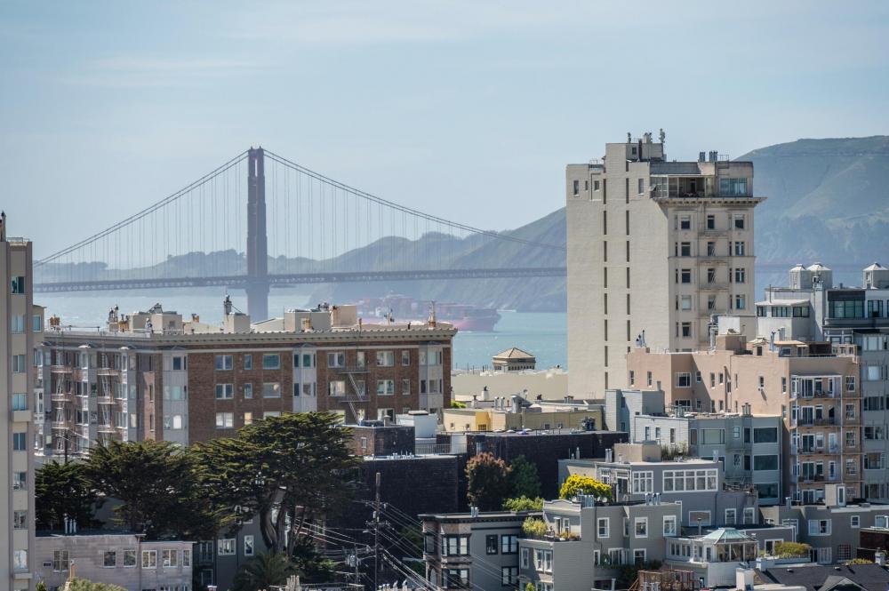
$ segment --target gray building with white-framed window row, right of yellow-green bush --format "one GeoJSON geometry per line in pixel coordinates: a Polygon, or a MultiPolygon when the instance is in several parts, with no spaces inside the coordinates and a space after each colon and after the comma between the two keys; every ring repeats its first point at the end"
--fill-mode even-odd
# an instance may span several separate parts
{"type": "MultiPolygon", "coordinates": [[[[620,449],[621,446],[615,446],[615,453],[620,454],[620,449]]],[[[560,460],[559,481],[564,482],[571,474],[589,475],[611,484],[615,499],[620,501],[644,501],[660,494],[664,503],[679,502],[680,523],[685,526],[697,525],[699,519],[704,527],[758,523],[756,489],[728,487],[722,464],[712,459],[640,461],[619,456],[617,461],[560,460]]]]}

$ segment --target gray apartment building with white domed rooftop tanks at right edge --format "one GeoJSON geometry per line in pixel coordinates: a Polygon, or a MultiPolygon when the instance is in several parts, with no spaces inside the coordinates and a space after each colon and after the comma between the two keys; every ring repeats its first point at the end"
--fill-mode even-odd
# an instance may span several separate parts
{"type": "Polygon", "coordinates": [[[757,302],[758,332],[773,340],[827,341],[853,347],[859,359],[863,490],[889,499],[889,269],[874,263],[861,287],[834,286],[821,263],[790,269],[787,287],[757,302]]]}

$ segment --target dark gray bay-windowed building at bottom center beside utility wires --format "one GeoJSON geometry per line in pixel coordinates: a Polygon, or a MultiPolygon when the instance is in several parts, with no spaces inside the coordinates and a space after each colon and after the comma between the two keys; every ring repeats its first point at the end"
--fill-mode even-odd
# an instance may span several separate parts
{"type": "Polygon", "coordinates": [[[426,579],[446,589],[515,589],[522,523],[540,513],[420,515],[426,579]]]}

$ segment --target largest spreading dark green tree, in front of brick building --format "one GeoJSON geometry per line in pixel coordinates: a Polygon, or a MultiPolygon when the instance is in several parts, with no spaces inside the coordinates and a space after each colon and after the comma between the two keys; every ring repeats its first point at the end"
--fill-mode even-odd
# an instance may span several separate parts
{"type": "Polygon", "coordinates": [[[358,460],[350,443],[335,414],[299,412],[254,421],[236,437],[194,449],[204,490],[228,509],[222,525],[236,529],[258,515],[266,547],[292,556],[306,523],[351,498],[358,460]]]}

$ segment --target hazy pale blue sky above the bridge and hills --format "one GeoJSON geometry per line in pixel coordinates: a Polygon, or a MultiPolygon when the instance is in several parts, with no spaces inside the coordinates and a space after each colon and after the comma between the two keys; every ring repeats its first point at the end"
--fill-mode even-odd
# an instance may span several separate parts
{"type": "Polygon", "coordinates": [[[885,2],[6,2],[0,175],[37,258],[261,144],[485,228],[626,132],[889,132],[885,2]]]}

